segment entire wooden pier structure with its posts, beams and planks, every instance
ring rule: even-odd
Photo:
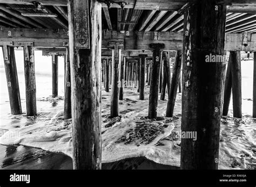
[[[65,56],[63,110],[73,123],[74,169],[101,169],[102,84],[107,92],[111,88],[114,118],[125,89],[136,87],[144,100],[146,82],[151,119],[158,117],[159,92],[162,100],[169,93],[166,117],[173,116],[182,87],[181,130],[197,131],[199,137],[181,141],[181,169],[218,169],[220,118],[228,113],[234,87],[234,117],[242,117],[240,51],[254,52],[256,66],[256,2],[112,0],[107,7],[104,0],[0,0],[0,47],[12,114],[22,113],[14,48],[24,50],[28,116],[37,115],[34,50],[52,56],[53,97],[58,56]],[[205,57],[227,51],[225,82],[226,61],[206,63]],[[255,111],[256,99],[254,117]]]

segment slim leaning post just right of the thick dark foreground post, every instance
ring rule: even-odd
[[[226,80],[225,80],[225,87],[224,87],[223,116],[227,116],[228,107],[230,106],[230,98],[231,98],[231,90],[232,90],[231,64],[232,64],[232,57],[230,53],[230,57],[228,59],[228,64],[227,64]]]

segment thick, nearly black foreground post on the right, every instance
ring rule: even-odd
[[[181,138],[181,169],[218,169],[225,22],[218,0],[199,0],[184,12],[181,132],[196,138]]]

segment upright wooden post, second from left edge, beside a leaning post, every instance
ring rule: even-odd
[[[26,116],[36,116],[36,75],[34,48],[25,45],[23,47],[23,52],[26,87]]]

